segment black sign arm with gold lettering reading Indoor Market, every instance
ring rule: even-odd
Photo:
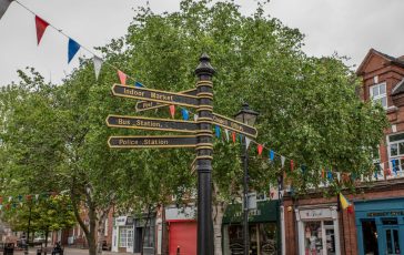
[[[161,90],[135,88],[129,85],[114,84],[112,93],[117,96],[139,99],[165,104],[176,104],[189,108],[198,108],[198,98]]]

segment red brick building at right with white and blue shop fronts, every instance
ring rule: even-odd
[[[361,98],[380,102],[391,123],[375,160],[380,171],[357,195],[346,195],[353,213],[339,211],[337,197],[321,193],[285,195],[283,254],[404,255],[404,58],[371,49],[356,73]]]

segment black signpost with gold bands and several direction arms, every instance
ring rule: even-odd
[[[112,86],[112,93],[115,96],[142,100],[138,102],[137,111],[171,104],[194,108],[198,113],[195,122],[112,114],[105,120],[107,125],[112,128],[191,133],[190,135],[111,136],[108,144],[110,147],[119,149],[195,147],[196,157],[192,163],[192,169],[198,172],[198,255],[213,255],[214,253],[211,190],[212,124],[250,137],[257,135],[253,126],[213,113],[212,76],[214,72],[210,64],[210,58],[203,53],[200,58],[200,64],[195,69],[196,89],[173,93],[121,84]]]

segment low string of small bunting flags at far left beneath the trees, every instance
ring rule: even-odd
[[[55,197],[60,193],[58,192],[43,192],[40,194],[27,194],[27,195],[17,195],[17,196],[0,196],[0,211],[17,208],[18,206],[23,206],[23,203],[49,200],[50,197]]]

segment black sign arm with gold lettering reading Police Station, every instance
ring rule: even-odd
[[[194,135],[110,136],[110,147],[195,147]]]

